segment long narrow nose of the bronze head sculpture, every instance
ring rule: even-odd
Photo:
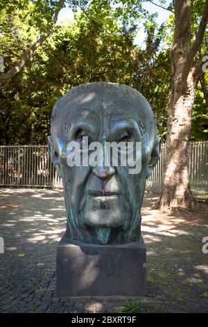
[[[103,144],[101,151],[98,153],[98,164],[92,169],[93,173],[102,180],[114,175],[115,168],[110,166],[110,158],[105,151],[105,144]]]

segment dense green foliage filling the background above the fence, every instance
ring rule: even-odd
[[[51,24],[57,3],[1,1],[0,55],[5,71]],[[70,3],[75,19],[57,24],[24,70],[0,88],[0,144],[46,143],[55,101],[73,86],[94,81],[125,83],[139,90],[153,107],[159,135],[165,140],[173,15],[157,26],[155,15],[146,13],[139,0]],[[78,12],[77,6],[82,10]],[[135,45],[141,24],[146,31],[145,49]],[[206,139],[207,129],[207,107],[199,85],[191,138]]]

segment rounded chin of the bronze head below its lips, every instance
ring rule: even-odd
[[[116,228],[122,225],[119,196],[90,196],[85,203],[85,223],[94,228]]]

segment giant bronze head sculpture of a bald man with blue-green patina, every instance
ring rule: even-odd
[[[147,105],[141,95],[130,97],[110,83],[88,84],[80,93],[63,98],[49,143],[64,183],[67,234],[72,239],[101,244],[138,239],[146,175],[159,156]],[[84,136],[89,143],[102,145],[98,166],[69,167],[67,144],[78,142],[82,155]],[[128,166],[112,166],[110,157],[106,165],[105,142],[113,141],[141,142],[140,173],[130,174]]]

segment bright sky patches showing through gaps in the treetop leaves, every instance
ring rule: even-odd
[[[155,0],[154,2],[159,4],[159,0]],[[166,1],[166,6],[168,6],[169,3],[171,3],[171,0]],[[143,4],[143,7],[144,9],[148,10],[149,13],[158,13],[156,22],[159,25],[165,22],[166,18],[171,14],[168,10],[159,8],[158,6],[155,6],[153,3],[150,3],[148,1]],[[60,10],[60,13],[58,15],[58,22],[67,19],[73,19],[73,11],[69,8],[63,8],[62,10]],[[145,37],[146,35],[144,33],[144,29],[140,29],[135,38],[135,43],[142,47],[142,45],[144,45]]]

